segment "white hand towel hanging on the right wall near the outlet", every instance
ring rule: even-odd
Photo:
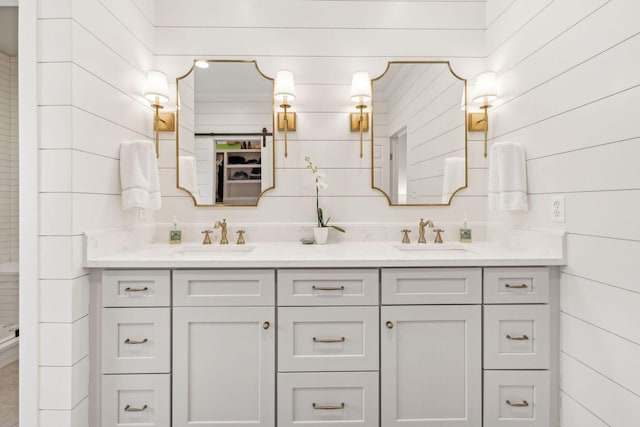
[[[498,142],[489,155],[489,210],[527,211],[527,162],[524,147]]]

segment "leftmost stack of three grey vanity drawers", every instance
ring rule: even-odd
[[[169,295],[168,270],[102,273],[102,426],[171,426]]]

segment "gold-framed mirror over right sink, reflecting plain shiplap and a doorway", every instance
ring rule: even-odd
[[[390,205],[449,205],[467,186],[467,81],[448,61],[392,61],[372,79],[372,185]]]

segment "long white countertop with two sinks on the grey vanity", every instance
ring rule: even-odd
[[[347,241],[326,245],[150,244],[112,254],[86,253],[87,268],[483,267],[564,265],[562,248],[489,243],[401,245]]]

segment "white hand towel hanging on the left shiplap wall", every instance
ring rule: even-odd
[[[123,209],[160,209],[160,178],[153,142],[125,141],[120,146]]]

